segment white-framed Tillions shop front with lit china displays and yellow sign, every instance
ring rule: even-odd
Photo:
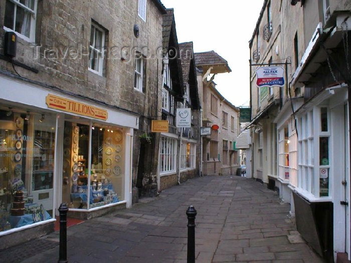
[[[0,82],[0,249],[52,231],[61,203],[86,219],[131,205],[136,115]]]

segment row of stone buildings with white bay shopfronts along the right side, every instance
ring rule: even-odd
[[[350,258],[350,24],[349,1],[264,1],[250,40],[254,178],[329,262]],[[285,85],[257,88],[259,66]]]

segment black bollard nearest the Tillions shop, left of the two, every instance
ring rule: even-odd
[[[67,204],[62,203],[60,212],[60,257],[58,263],[67,263]]]

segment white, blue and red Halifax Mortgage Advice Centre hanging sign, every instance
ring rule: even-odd
[[[282,67],[259,67],[256,70],[258,87],[283,87],[285,85],[284,69]]]

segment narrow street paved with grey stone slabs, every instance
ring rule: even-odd
[[[150,202],[72,226],[68,260],[186,262],[190,204],[198,211],[197,262],[322,262],[299,237],[289,205],[262,184],[238,176],[191,179]],[[25,247],[0,252],[0,258],[57,262],[58,232]]]

